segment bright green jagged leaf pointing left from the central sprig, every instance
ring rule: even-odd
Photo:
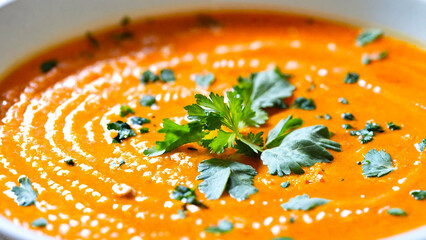
[[[155,147],[146,149],[143,152],[146,156],[159,156],[186,143],[198,142],[206,134],[199,122],[179,125],[170,119],[163,120],[163,128],[158,132],[166,134],[164,141],[157,141]]]

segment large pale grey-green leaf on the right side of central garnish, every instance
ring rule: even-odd
[[[341,151],[340,144],[329,138],[330,132],[323,125],[297,129],[289,133],[279,146],[265,150],[260,158],[272,175],[303,174],[302,167],[333,160],[333,155],[326,148]]]

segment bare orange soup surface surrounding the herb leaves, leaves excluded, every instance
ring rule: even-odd
[[[111,37],[124,31],[133,37]],[[426,152],[414,147],[426,138],[426,53],[389,37],[358,47],[359,31],[271,13],[176,16],[95,32],[99,47],[81,38],[31,59],[0,86],[0,214],[60,239],[377,239],[426,224],[426,200],[410,195],[426,190]],[[361,63],[364,53],[377,51],[388,51],[388,57]],[[57,59],[57,67],[42,73],[40,64],[50,59]],[[303,126],[325,125],[334,133],[331,140],[342,145],[341,152],[330,151],[331,163],[279,177],[270,175],[259,158],[233,150],[210,154],[196,143],[158,157],[143,154],[164,139],[157,132],[164,118],[186,122],[183,107],[195,102],[196,93],[223,94],[237,84],[238,76],[275,66],[291,74],[289,81],[296,87],[285,102],[312,98],[316,110],[271,109],[267,124],[251,130],[267,133],[290,114],[302,118]],[[140,83],[144,71],[164,68],[174,71],[176,81]],[[344,83],[348,72],[358,73],[359,81]],[[215,82],[208,88],[197,86],[195,76],[206,73],[213,73]],[[139,104],[147,94],[156,97],[156,105]],[[340,97],[349,104],[340,103]],[[144,125],[149,132],[111,143],[117,133],[106,124],[131,117],[120,117],[122,104],[135,110],[133,116],[151,120]],[[342,119],[347,112],[354,121]],[[318,118],[324,114],[331,119]],[[363,129],[367,121],[385,129],[367,144],[342,128],[349,123]],[[386,128],[391,121],[401,130]],[[358,163],[370,149],[389,153],[394,171],[365,177]],[[197,190],[208,209],[191,206],[186,218],[180,218],[182,202],[170,198],[174,187],[197,186],[198,164],[227,155],[256,169],[258,193],[244,201],[228,194],[208,200]],[[64,158],[74,159],[75,166],[65,164]],[[125,164],[117,166],[121,160]],[[15,202],[10,189],[19,185],[21,175],[38,192],[35,205]],[[290,187],[280,186],[285,181]],[[117,196],[115,184],[133,188],[135,197]],[[331,201],[310,211],[280,206],[302,194]],[[395,207],[407,216],[387,213]],[[47,226],[31,227],[40,217]],[[220,236],[204,231],[221,219],[232,222],[234,229]]]

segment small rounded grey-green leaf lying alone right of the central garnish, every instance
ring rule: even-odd
[[[362,171],[366,177],[381,177],[394,170],[391,156],[382,150],[371,149],[362,161]]]

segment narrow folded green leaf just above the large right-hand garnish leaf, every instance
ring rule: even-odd
[[[282,119],[271,131],[269,131],[265,146],[267,148],[279,146],[282,140],[289,134],[289,131],[302,126],[302,124],[302,119],[293,118],[292,115],[288,116],[286,119]]]

